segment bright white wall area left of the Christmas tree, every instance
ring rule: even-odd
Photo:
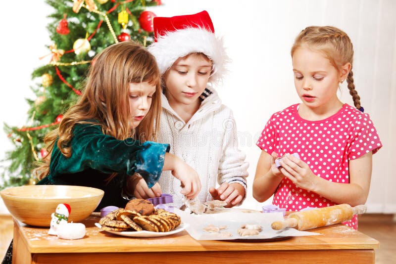
[[[25,98],[35,98],[30,86],[40,83],[31,79],[33,69],[44,65],[39,57],[49,53],[50,44],[46,18],[52,11],[44,1],[24,1],[17,10],[0,16],[1,63],[0,63],[0,160],[13,145],[3,132],[3,122],[22,127],[28,122],[29,105]],[[48,62],[48,60],[47,60]],[[0,162],[7,166],[8,163]],[[0,173],[3,171],[0,168]],[[0,214],[6,212],[0,199]]]

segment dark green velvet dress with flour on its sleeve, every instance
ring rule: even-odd
[[[77,124],[71,140],[71,157],[66,158],[54,145],[49,175],[37,184],[79,185],[99,188],[104,196],[96,211],[106,206],[125,207],[122,198],[126,177],[140,174],[152,187],[158,181],[168,144],[144,143],[127,138],[118,140],[103,134],[99,125]],[[118,173],[110,182],[105,179]]]

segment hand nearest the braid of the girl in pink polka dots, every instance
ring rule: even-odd
[[[314,175],[308,164],[302,160],[287,154],[281,161],[280,171],[288,177],[297,187],[308,191],[315,190],[315,182],[318,176]],[[272,168],[272,167],[271,167]]]

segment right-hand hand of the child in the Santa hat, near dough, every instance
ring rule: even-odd
[[[209,188],[209,192],[213,200],[225,201],[228,208],[239,204],[245,196],[245,188],[239,183],[223,182],[217,189]]]

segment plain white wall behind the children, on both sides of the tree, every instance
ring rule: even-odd
[[[251,0],[247,1],[249,5],[241,5],[243,1],[237,0],[162,2],[164,5],[150,8],[158,16],[207,10],[216,33],[224,37],[233,62],[218,92],[223,103],[234,110],[241,148],[250,163],[250,187],[260,154],[255,146],[259,133],[273,112],[299,101],[290,58],[294,38],[309,25],[333,25],[346,31],[355,50],[356,90],[384,144],[373,158],[367,205],[370,212],[396,213],[396,177],[391,160],[394,156],[391,150],[396,149],[396,1]],[[41,65],[38,57],[48,53],[45,45],[50,40],[45,16],[50,12],[43,2],[28,1],[17,15],[6,12],[0,16],[6,40],[0,71],[3,83],[0,129],[4,121],[15,126],[27,122],[28,106],[23,98],[33,96],[29,89],[30,74]],[[17,34],[21,36],[15,37]],[[346,87],[340,96],[353,105]],[[0,159],[9,148],[6,135],[0,132]],[[250,188],[243,207],[260,206],[251,198]]]

